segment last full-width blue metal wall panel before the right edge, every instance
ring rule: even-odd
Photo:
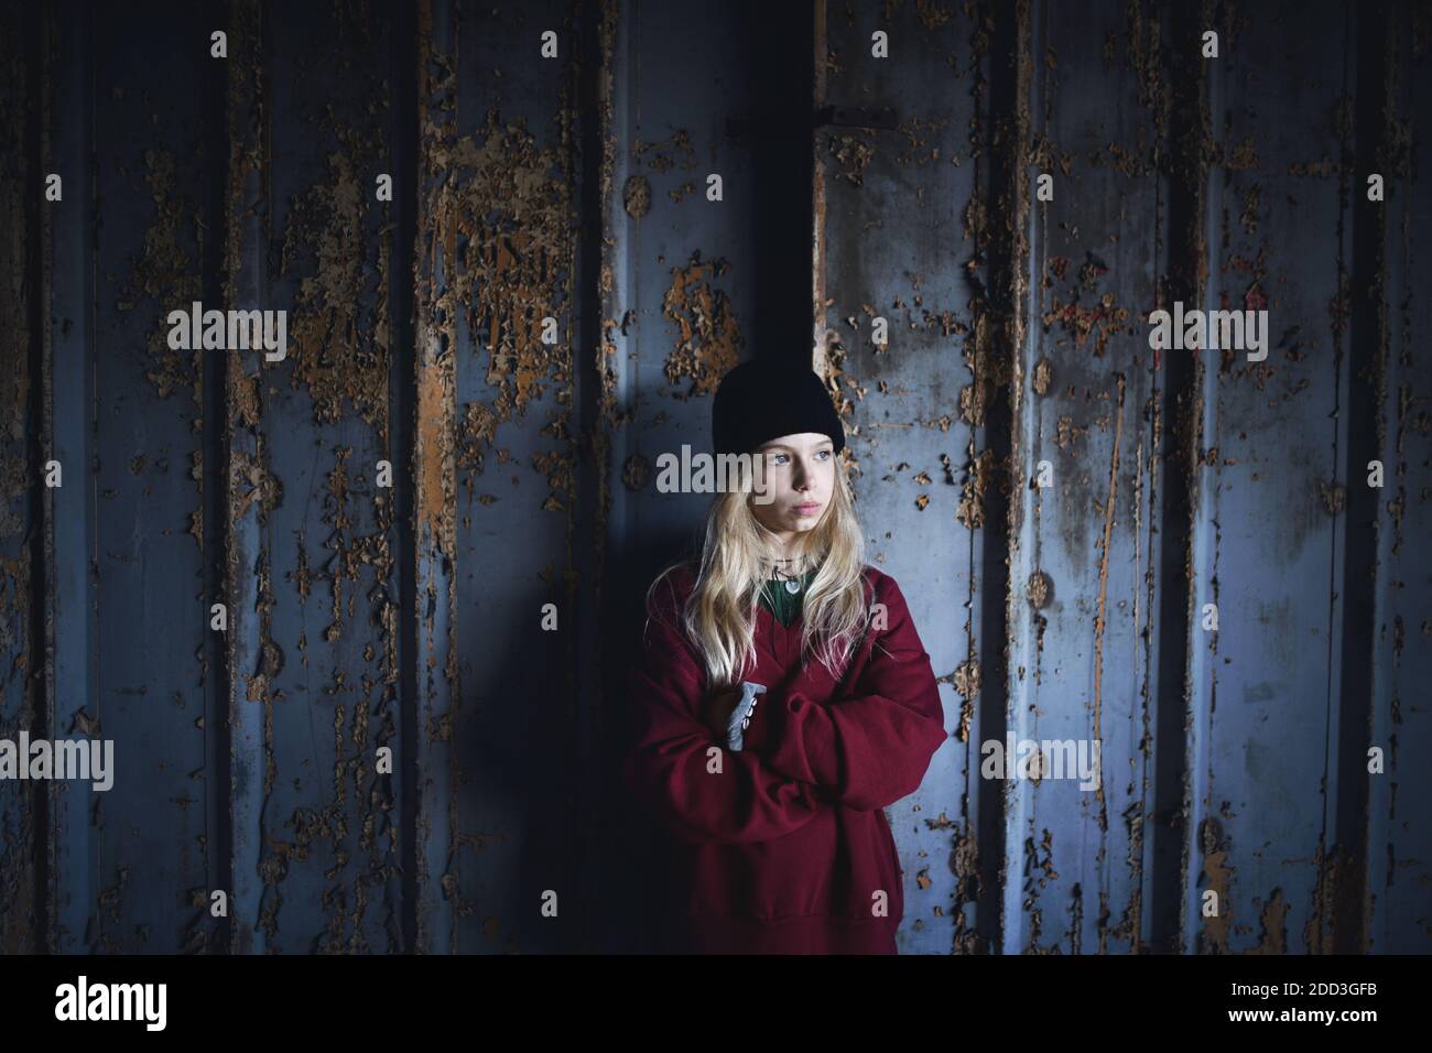
[[[1280,6],[1263,32],[1290,47],[1252,62],[1239,43],[1257,30],[1244,24],[1210,72],[1224,150],[1210,166],[1204,302],[1266,304],[1270,332],[1264,362],[1216,351],[1203,361],[1194,607],[1216,603],[1219,630],[1200,625],[1191,645],[1187,867],[1203,877],[1187,910],[1199,917],[1207,888],[1226,908],[1189,927],[1197,948],[1316,950],[1330,921],[1329,805],[1337,751],[1356,746],[1333,734],[1349,701],[1337,675],[1348,516],[1335,509],[1362,481],[1348,464],[1346,407],[1365,358],[1337,298],[1353,228],[1372,215],[1340,188],[1352,128],[1336,117],[1359,56],[1323,27],[1342,17],[1337,4]]]

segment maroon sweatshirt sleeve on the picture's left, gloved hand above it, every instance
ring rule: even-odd
[[[809,782],[772,771],[749,749],[720,746],[702,719],[706,676],[680,630],[666,583],[649,607],[642,659],[632,673],[636,742],[626,755],[627,789],[680,841],[769,841],[809,822],[831,804]],[[709,771],[720,748],[720,771]]]

